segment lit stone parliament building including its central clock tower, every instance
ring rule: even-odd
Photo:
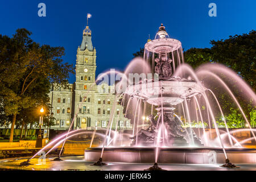
[[[115,102],[114,85],[96,85],[96,49],[93,48],[92,34],[86,26],[82,43],[77,48],[76,81],[69,88],[52,85],[49,93],[51,113],[56,118],[54,130],[67,130],[75,118],[73,129],[106,129]],[[107,88],[107,89],[106,89]],[[123,107],[115,105],[112,128],[130,130],[130,120],[124,117]]]

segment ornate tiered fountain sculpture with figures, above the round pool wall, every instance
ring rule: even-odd
[[[201,83],[196,81],[172,77],[171,63],[175,61],[174,52],[182,49],[181,43],[179,40],[169,38],[165,27],[161,24],[155,40],[146,43],[144,49],[158,55],[155,59],[155,73],[158,74],[159,80],[145,80],[131,85],[127,88],[126,94],[141,98],[150,105],[158,106],[156,108],[158,119],[155,121],[153,115],[148,115],[151,122],[150,127],[146,130],[141,129],[137,135],[131,137],[132,145],[155,146],[156,135],[158,135],[159,126],[162,124],[167,130],[167,139],[172,146],[187,146],[188,143],[200,146],[200,139],[196,137],[193,130],[191,128],[184,129],[181,121],[174,116],[177,104],[206,90]],[[178,57],[178,59],[181,58]],[[175,66],[175,64],[172,65]]]

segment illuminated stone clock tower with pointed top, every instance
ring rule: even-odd
[[[92,32],[89,26],[86,26],[76,55],[74,129],[86,129],[92,125],[92,106],[96,90],[95,72],[96,49],[92,44]]]

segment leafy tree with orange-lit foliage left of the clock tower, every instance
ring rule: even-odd
[[[10,142],[17,114],[40,103],[40,97],[31,93],[41,92],[42,96],[40,89],[53,82],[67,85],[68,74],[74,72],[73,65],[62,63],[63,47],[40,46],[30,35],[24,28],[16,30],[13,38],[0,35],[0,94],[5,114],[13,117]],[[44,94],[48,92],[45,90]]]

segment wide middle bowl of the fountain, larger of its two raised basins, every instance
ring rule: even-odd
[[[159,106],[163,101],[163,106],[168,107],[180,104],[184,98],[196,96],[205,90],[207,89],[203,85],[195,81],[173,77],[168,80],[150,80],[131,85],[127,88],[126,94],[141,97],[151,105]]]

